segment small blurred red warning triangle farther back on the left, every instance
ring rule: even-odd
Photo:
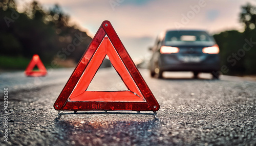
[[[33,70],[33,68],[37,66],[39,70]],[[28,67],[25,70],[26,76],[29,77],[40,77],[40,76],[46,76],[47,70],[44,64],[42,64],[41,59],[37,54],[33,55],[33,58],[29,62]]]

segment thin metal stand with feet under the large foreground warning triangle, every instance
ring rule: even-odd
[[[55,120],[57,120],[58,118],[61,117],[61,115],[68,115],[68,114],[134,114],[134,115],[154,115],[155,120],[159,120],[159,118],[157,117],[157,112],[154,113],[134,113],[134,112],[73,112],[73,113],[58,113],[57,117],[55,118]]]

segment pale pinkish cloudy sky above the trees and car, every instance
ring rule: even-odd
[[[19,0],[22,6],[32,0]],[[256,0],[37,0],[44,9],[58,4],[72,23],[93,36],[102,21],[112,23],[133,59],[148,55],[148,47],[167,29],[200,29],[210,34],[243,31],[241,6]],[[148,57],[148,56],[147,56]]]

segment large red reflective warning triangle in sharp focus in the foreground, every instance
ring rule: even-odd
[[[105,56],[124,82],[125,91],[87,91]],[[65,87],[56,110],[158,111],[160,106],[109,21],[103,21]]]

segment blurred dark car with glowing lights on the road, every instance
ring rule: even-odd
[[[209,72],[219,79],[219,46],[214,38],[201,30],[169,30],[161,33],[150,48],[152,77],[162,78],[164,71]]]

